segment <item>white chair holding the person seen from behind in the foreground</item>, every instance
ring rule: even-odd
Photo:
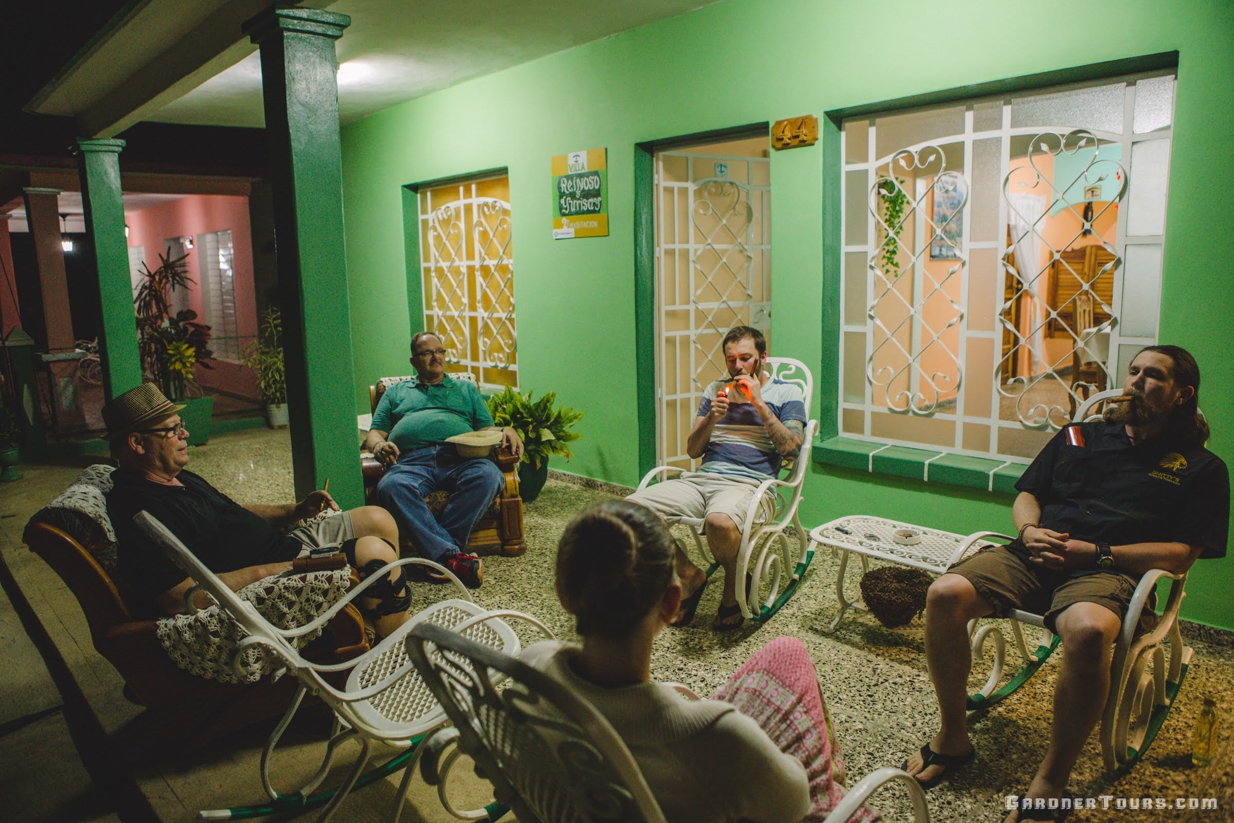
[[[417,626],[406,645],[453,722],[426,744],[426,781],[439,782],[438,765],[448,766],[463,753],[522,823],[664,823],[629,749],[586,698],[524,663],[437,626]],[[500,692],[490,686],[499,680],[507,682]],[[452,745],[457,748],[439,761]],[[913,819],[928,823],[921,784],[890,767],[858,782],[824,823],[844,823],[893,780],[907,786]]]

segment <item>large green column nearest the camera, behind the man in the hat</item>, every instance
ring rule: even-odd
[[[262,52],[296,496],[328,479],[343,508],[364,502],[334,80],[334,41],[350,22],[271,7],[244,23]]]

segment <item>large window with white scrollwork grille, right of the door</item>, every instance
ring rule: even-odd
[[[1027,463],[1120,385],[1157,336],[1172,115],[1141,75],[845,122],[840,434]]]

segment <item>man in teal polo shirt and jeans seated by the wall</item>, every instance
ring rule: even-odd
[[[437,334],[420,332],[411,338],[411,365],[416,380],[386,389],[364,440],[364,448],[387,466],[378,482],[378,501],[399,522],[399,533],[410,537],[424,556],[476,589],[484,581],[484,563],[463,549],[505,480],[492,460],[463,459],[445,439],[500,431],[502,444],[516,457],[522,457],[523,442],[515,429],[492,424],[473,384],[447,378],[445,349]],[[450,491],[441,519],[424,503],[438,489]]]

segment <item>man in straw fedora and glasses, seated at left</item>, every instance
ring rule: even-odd
[[[105,437],[120,465],[111,474],[114,485],[107,492],[107,515],[120,543],[120,570],[152,612],[186,611],[184,595],[191,580],[135,526],[133,517],[141,511],[158,518],[236,591],[291,570],[292,560],[313,549],[338,547],[362,576],[397,559],[397,526],[378,506],[339,512],[284,534],[292,523],[327,508],[338,512],[338,506],[325,490],[299,503],[241,506],[185,469],[189,432],[180,422],[181,408],[152,383],[130,389],[102,407]],[[383,637],[407,621],[405,582],[400,569],[395,580],[373,584],[373,597],[360,598]]]

